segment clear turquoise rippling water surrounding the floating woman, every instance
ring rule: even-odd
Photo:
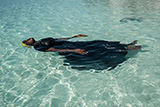
[[[136,18],[140,21],[123,18]],[[159,107],[159,0],[1,0],[0,107]],[[139,40],[142,50],[108,71],[78,71],[57,53],[23,48],[30,37]]]

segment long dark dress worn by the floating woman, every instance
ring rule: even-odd
[[[65,65],[69,64],[75,69],[107,69],[115,68],[118,64],[126,60],[127,50],[125,45],[120,42],[109,42],[103,40],[95,41],[62,41],[53,38],[41,39],[34,45],[39,51],[45,51],[49,48],[55,49],[85,49],[87,54],[81,55],[75,52],[59,52],[64,55]]]

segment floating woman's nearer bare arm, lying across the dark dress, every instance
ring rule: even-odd
[[[76,52],[81,55],[87,54],[88,52],[84,49],[54,49],[54,48],[49,48],[46,50],[46,52]]]

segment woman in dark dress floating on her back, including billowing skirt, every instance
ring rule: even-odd
[[[105,69],[114,68],[126,60],[127,50],[140,50],[141,46],[135,46],[137,40],[130,44],[120,44],[104,40],[94,41],[67,41],[77,37],[88,37],[79,34],[69,38],[44,38],[36,41],[29,38],[22,41],[23,46],[31,47],[43,52],[58,52],[64,55],[65,62],[77,69]]]

